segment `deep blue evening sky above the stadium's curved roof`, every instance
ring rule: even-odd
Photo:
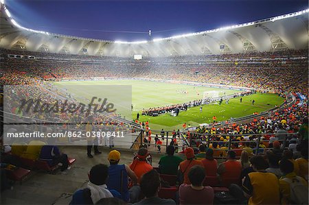
[[[150,40],[247,23],[308,8],[290,1],[46,1],[5,0],[28,28],[104,40]],[[148,29],[152,36],[148,36]]]

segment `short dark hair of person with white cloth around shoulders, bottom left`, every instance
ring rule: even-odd
[[[108,167],[107,165],[99,164],[91,168],[89,173],[89,180],[95,185],[102,185],[106,183],[108,177]]]

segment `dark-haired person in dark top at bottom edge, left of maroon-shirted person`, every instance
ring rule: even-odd
[[[164,200],[158,197],[159,189],[161,187],[160,175],[155,169],[152,169],[145,173],[141,177],[141,193],[145,195],[144,200],[137,202],[135,204],[176,204],[174,200],[168,199]]]

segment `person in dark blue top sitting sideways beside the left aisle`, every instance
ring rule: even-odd
[[[61,163],[60,171],[65,171],[69,167],[67,154],[62,154],[59,148],[55,145],[44,145],[41,149],[40,160],[46,161],[50,167]]]

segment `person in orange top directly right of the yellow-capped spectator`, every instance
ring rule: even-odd
[[[148,157],[148,150],[144,147],[139,149],[137,152],[137,156],[133,160],[133,162],[129,165],[130,169],[134,171],[137,176],[137,182],[140,182],[141,176],[150,171],[152,166],[147,163],[146,158]]]

